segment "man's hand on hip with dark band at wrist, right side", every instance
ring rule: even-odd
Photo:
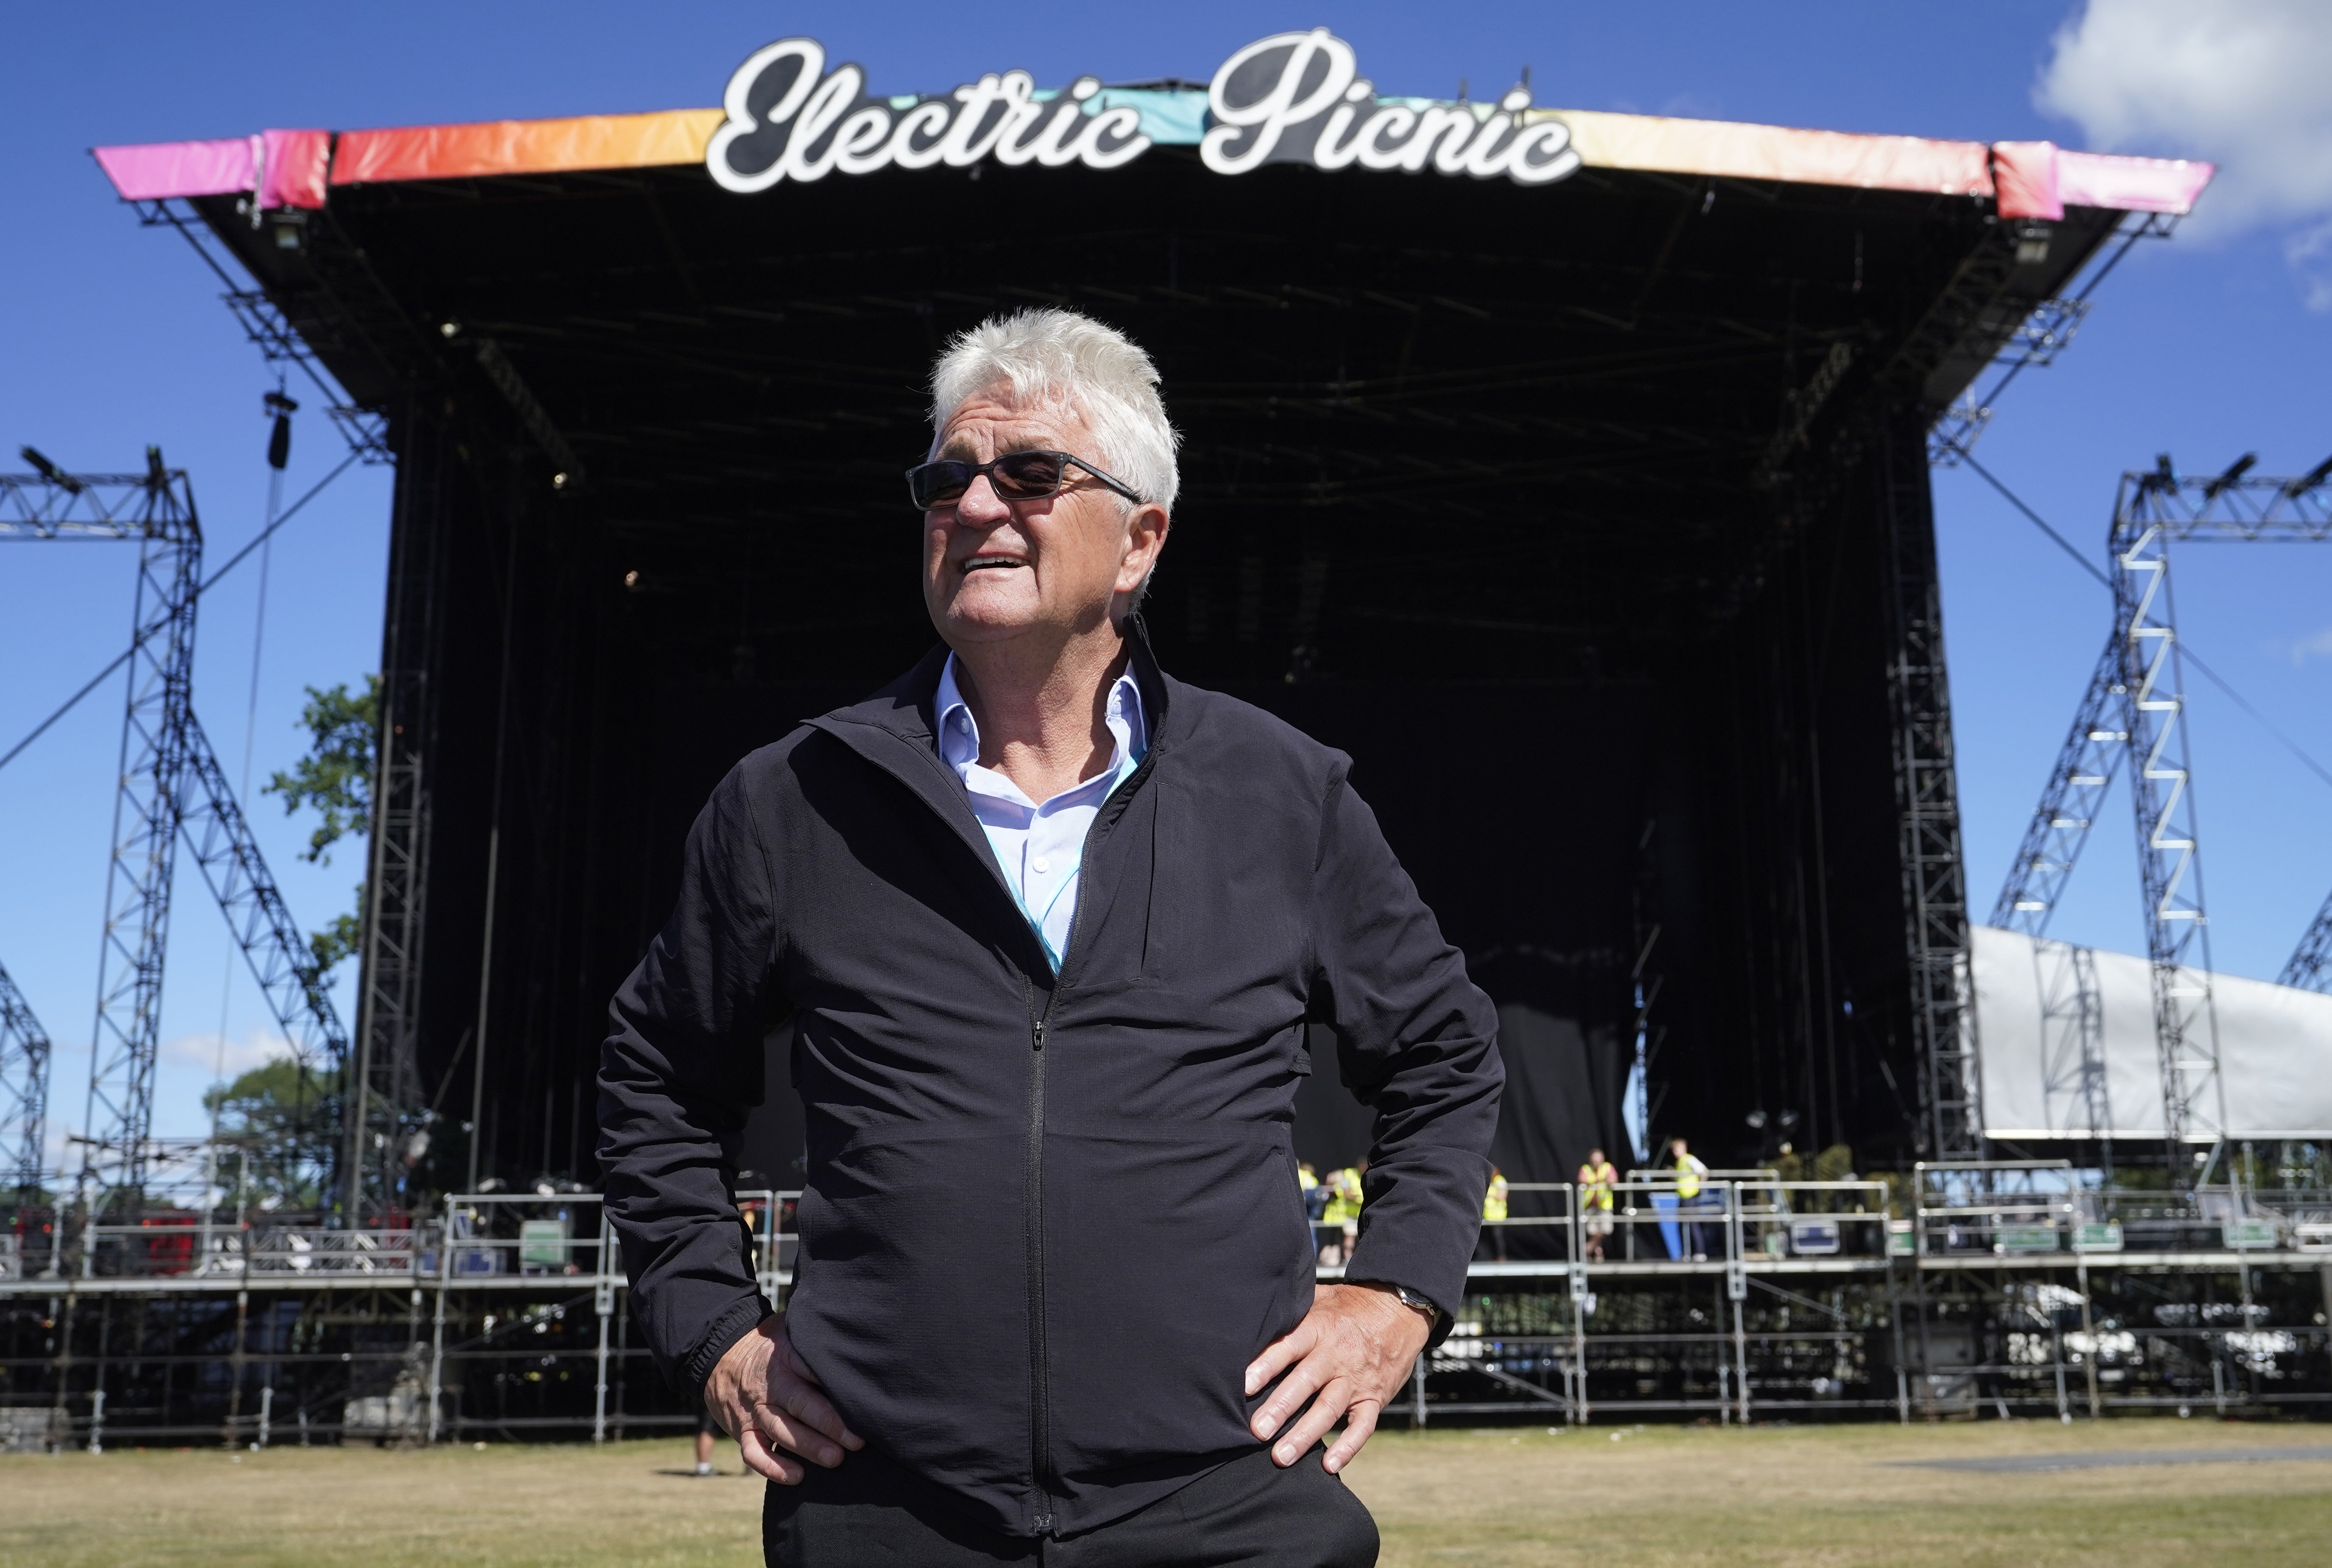
[[[1255,1412],[1250,1426],[1257,1438],[1269,1440],[1311,1400],[1311,1410],[1271,1447],[1271,1463],[1292,1465],[1341,1419],[1343,1438],[1320,1463],[1329,1475],[1343,1470],[1376,1431],[1376,1412],[1409,1382],[1430,1330],[1425,1314],[1402,1305],[1388,1286],[1318,1286],[1304,1321],[1248,1368],[1248,1393],[1294,1368]]]

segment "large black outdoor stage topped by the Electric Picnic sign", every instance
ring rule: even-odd
[[[2208,165],[1378,100],[1322,37],[1234,56],[1213,98],[870,98],[795,40],[725,112],[100,149],[149,221],[257,280],[254,338],[396,464],[340,1172],[366,1223],[595,1186],[606,997],[681,836],[739,755],[930,645],[900,482],[921,382],[1033,303],[1157,356],[1185,431],[1161,659],[1355,757],[1499,1002],[1511,1179],[1621,1153],[1630,1109],[1730,1167],[1784,1139],[1861,1170],[1980,1151],[1931,429],[2061,347],[2064,296]],[[798,1179],[784,1044],[746,1186]],[[1299,1151],[1364,1137],[1315,1076]],[[1740,1302],[1770,1305],[1744,1246],[1705,1323],[1700,1265],[1653,1270],[1642,1333],[1744,1342]],[[1856,1265],[1852,1335],[1908,1321],[1929,1270],[1889,1258]],[[1506,1335],[1583,1333],[1565,1302],[1632,1288],[1532,1270],[1483,1277],[1548,1302]],[[406,1393],[420,1274],[375,1335]],[[1854,1398],[1901,1414],[1898,1370],[1926,1370],[1891,1344]],[[1737,1414],[1726,1356],[1630,1398]],[[1437,1372],[1460,1403],[1481,1382]]]

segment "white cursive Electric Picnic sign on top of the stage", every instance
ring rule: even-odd
[[[1040,91],[1026,70],[989,72],[937,98],[872,98],[863,68],[826,70],[816,40],[788,37],[730,77],[728,119],[704,165],[739,193],[982,158],[1119,168],[1159,140],[1196,142],[1217,175],[1311,163],[1551,184],[1579,168],[1569,128],[1530,112],[1527,89],[1497,105],[1378,98],[1353,44],[1327,28],[1273,33],[1224,61],[1206,89],[1203,128],[1194,100],[1194,91],[1103,89],[1098,77]]]

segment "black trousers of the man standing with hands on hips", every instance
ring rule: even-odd
[[[1371,1568],[1376,1519],[1320,1454],[1280,1470],[1257,1449],[1117,1524],[1028,1540],[954,1512],[935,1486],[861,1449],[837,1470],[812,1465],[800,1486],[772,1482],[760,1549],[770,1568]]]

